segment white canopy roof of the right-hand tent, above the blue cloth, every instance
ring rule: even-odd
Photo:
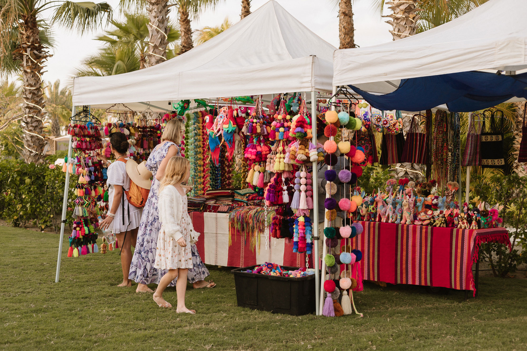
[[[386,94],[401,79],[465,71],[527,72],[527,1],[490,0],[402,40],[337,50],[333,85]],[[519,101],[519,99],[511,99]]]

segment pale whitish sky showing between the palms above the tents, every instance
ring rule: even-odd
[[[252,0],[251,11],[265,4],[268,0]],[[95,2],[98,2],[95,0]],[[114,17],[119,17],[119,0],[107,0],[114,8]],[[321,38],[338,47],[338,9],[331,5],[330,0],[277,0],[286,11],[304,23],[311,31]],[[392,26],[384,23],[385,18],[380,18],[368,7],[370,1],[356,1],[353,6],[355,24],[355,43],[360,47],[386,43],[392,40],[388,32]],[[174,7],[173,7],[174,8]],[[226,0],[213,10],[207,10],[200,14],[198,19],[191,22],[192,30],[203,26],[217,26],[223,22],[225,17],[233,23],[240,20],[241,1]],[[172,10],[170,15],[177,16],[177,11]],[[53,57],[47,61],[47,72],[43,79],[46,81],[61,80],[65,86],[75,72],[76,67],[81,65],[84,57],[94,54],[102,43],[93,38],[102,33],[84,34],[83,36],[71,33],[61,27],[54,28],[56,47],[52,49]]]

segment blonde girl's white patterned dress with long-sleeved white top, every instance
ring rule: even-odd
[[[174,186],[166,186],[159,193],[159,220],[161,230],[155,249],[154,267],[159,269],[192,268],[191,246],[197,240],[187,211],[187,196],[182,196]],[[187,246],[181,247],[183,238]]]

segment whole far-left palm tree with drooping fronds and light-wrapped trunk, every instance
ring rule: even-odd
[[[53,10],[53,16],[45,14]],[[0,72],[3,75],[22,73],[24,100],[21,136],[25,162],[44,160],[45,96],[42,74],[48,49],[49,24],[59,23],[80,33],[97,28],[108,21],[111,7],[107,3],[75,3],[53,0],[0,0]]]

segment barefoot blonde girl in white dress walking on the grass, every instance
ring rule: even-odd
[[[187,274],[192,268],[191,245],[198,240],[187,210],[187,195],[182,182],[190,177],[189,160],[181,156],[170,158],[159,185],[159,220],[161,230],[155,250],[154,267],[168,270],[154,292],[154,301],[160,307],[172,307],[163,299],[163,291],[172,280],[178,278],[175,290],[178,295],[177,313],[196,314],[185,306]]]

